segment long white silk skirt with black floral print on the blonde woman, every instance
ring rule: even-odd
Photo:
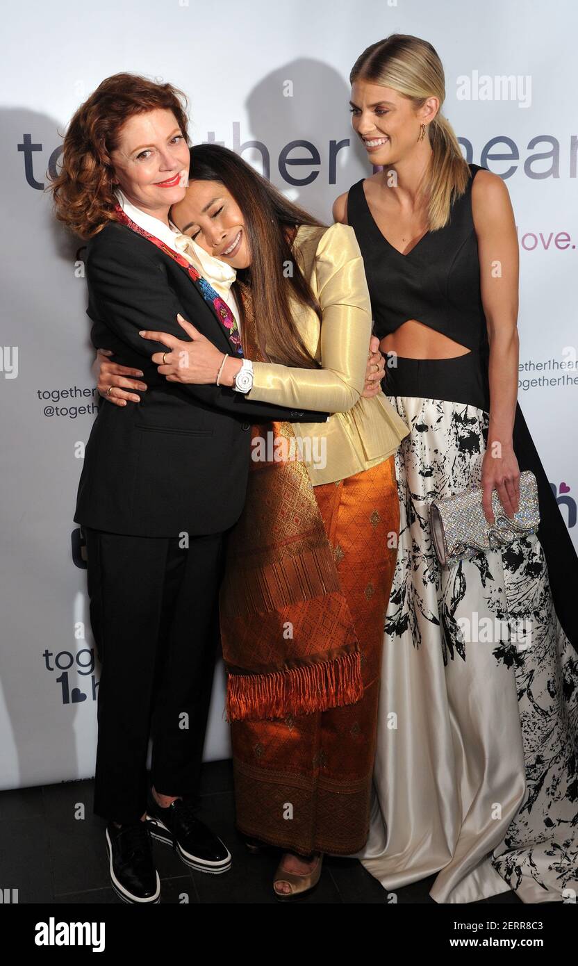
[[[572,901],[578,656],[554,610],[536,534],[439,567],[428,506],[480,483],[488,414],[478,390],[478,405],[424,395],[435,388],[463,398],[460,380],[475,357],[416,361],[399,359],[388,383],[411,433],[396,456],[399,553],[371,828],[357,858],[389,892],[437,873],[429,895],[440,903],[509,890],[523,902]],[[457,376],[450,384],[447,363]],[[420,395],[397,394],[408,379]]]

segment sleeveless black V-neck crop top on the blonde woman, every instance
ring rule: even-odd
[[[366,200],[365,179],[349,188],[347,223],[363,255],[373,332],[379,340],[408,319],[447,335],[471,350],[487,350],[480,293],[478,240],[472,217],[472,177],[452,206],[444,228],[427,234],[402,255],[383,237]],[[487,170],[487,169],[484,169]]]

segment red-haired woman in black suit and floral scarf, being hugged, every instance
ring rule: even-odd
[[[228,848],[197,815],[223,536],[243,506],[250,422],[326,419],[250,402],[229,379],[242,355],[234,316],[169,220],[188,180],[183,100],[170,84],[108,77],[70,121],[52,185],[57,217],[89,240],[93,341],[149,386],[138,407],[100,406],[74,515],[86,536],[102,665],[94,810],[107,819],[112,885],[132,903],[160,895],[147,814],[188,866],[231,866]],[[220,385],[171,384],[157,372],[151,355],[165,346],[139,330],[186,338],[179,313],[218,350]]]

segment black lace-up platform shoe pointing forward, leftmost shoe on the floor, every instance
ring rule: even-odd
[[[120,828],[108,822],[106,850],[112,887],[124,902],[160,901],[160,879],[154,867],[147,822],[139,820]]]

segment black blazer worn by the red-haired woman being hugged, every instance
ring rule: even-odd
[[[86,275],[96,348],[142,369],[140,403],[99,398],[86,446],[74,521],[113,533],[174,537],[217,533],[238,519],[247,486],[252,423],[324,422],[325,412],[251,402],[227,386],[169,383],[151,355],[166,346],[139,329],[188,335],[177,313],[219,350],[227,330],[186,269],[151,241],[109,222],[87,245]]]

